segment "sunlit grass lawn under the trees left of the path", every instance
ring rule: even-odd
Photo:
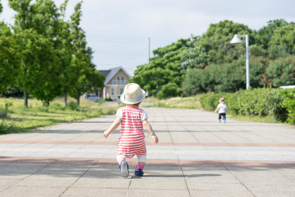
[[[75,99],[69,98],[68,103],[71,101],[71,104],[76,103]],[[55,123],[115,114],[117,109],[116,102],[114,105],[106,105],[103,101],[95,103],[84,99],[83,103],[80,101],[77,110],[72,110],[64,107],[63,98],[50,102],[49,107],[43,106],[41,101],[29,99],[26,108],[23,106],[23,99],[0,98],[0,134],[25,132]]]

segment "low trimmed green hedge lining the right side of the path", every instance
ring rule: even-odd
[[[201,97],[205,110],[214,110],[224,97],[231,114],[269,116],[295,124],[295,89],[249,88],[235,93],[213,93]]]

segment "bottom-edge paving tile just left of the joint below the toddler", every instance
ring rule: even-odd
[[[127,188],[80,188],[70,187],[62,196],[125,197]]]

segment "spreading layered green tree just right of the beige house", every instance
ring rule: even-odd
[[[183,70],[186,69],[181,65],[181,54],[187,49],[188,40],[180,39],[171,45],[154,50],[155,57],[151,58],[149,64],[137,66],[130,81],[139,84],[143,89],[149,91],[150,95],[155,96],[160,93],[159,98],[175,96],[183,81]],[[169,87],[165,86],[162,90],[166,84]],[[167,89],[169,91],[166,91]],[[174,93],[171,94],[172,92]]]

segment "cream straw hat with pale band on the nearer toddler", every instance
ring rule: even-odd
[[[120,100],[125,104],[137,104],[145,98],[145,91],[136,83],[129,83],[125,86]]]

